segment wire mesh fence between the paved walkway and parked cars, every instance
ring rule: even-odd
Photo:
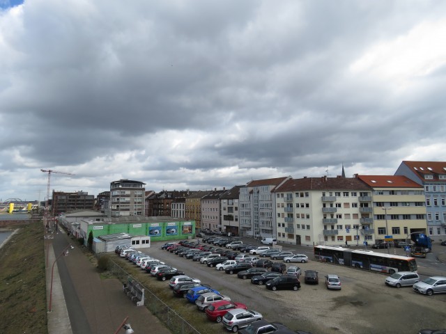
[[[108,270],[121,282],[128,282],[129,280],[134,280],[132,276],[127,273],[123,268],[119,266],[113,260],[109,260]],[[196,328],[194,328],[191,324],[189,324],[183,317],[178,315],[177,312],[172,310],[169,305],[164,303],[161,299],[159,299],[153,292],[150,291],[147,287],[142,285],[141,283],[137,283],[144,288],[145,298],[144,298],[144,306],[150,310],[155,317],[160,319],[164,325],[169,328],[169,330],[174,334],[200,334]]]

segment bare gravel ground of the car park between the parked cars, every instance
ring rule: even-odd
[[[250,280],[161,250],[162,244],[164,242],[153,242],[151,248],[142,250],[189,276],[199,278],[233,301],[261,312],[268,321],[282,322],[293,330],[353,334],[417,333],[421,328],[446,328],[446,294],[424,296],[413,292],[411,287],[387,287],[384,284],[386,276],[380,273],[316,262],[310,256],[308,263],[293,265],[300,267],[302,273],[307,269],[318,271],[318,285],[305,285],[301,279],[302,287],[297,292],[272,292],[264,286],[253,285]],[[328,273],[341,278],[340,291],[325,288],[324,276]],[[196,312],[207,321],[206,316]],[[217,324],[215,328],[217,332],[225,332]]]

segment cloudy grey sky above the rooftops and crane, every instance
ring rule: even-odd
[[[446,1],[0,0],[0,198],[446,161],[445,78]]]

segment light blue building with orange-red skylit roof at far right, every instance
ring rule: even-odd
[[[404,175],[424,186],[429,237],[446,239],[446,162],[402,161],[395,175]]]

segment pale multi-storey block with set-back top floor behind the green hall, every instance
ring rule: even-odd
[[[144,182],[127,179],[111,182],[111,216],[143,216],[145,212],[145,185]]]

